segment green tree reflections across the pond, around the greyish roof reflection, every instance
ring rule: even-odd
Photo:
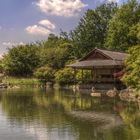
[[[26,92],[28,93],[28,92]],[[34,94],[33,94],[34,93]],[[140,129],[140,112],[136,104],[123,103],[112,99],[92,98],[87,95],[74,95],[68,91],[31,94],[3,94],[2,108],[11,121],[40,123],[47,129],[58,128],[65,135],[66,127],[70,134],[76,134],[78,140],[114,140],[138,139]],[[98,112],[121,115],[125,128],[98,129],[101,122],[92,122],[70,114],[73,111]],[[82,116],[82,114],[80,114]],[[107,118],[107,116],[104,116]],[[108,117],[109,118],[109,117]],[[117,123],[117,122],[116,122]],[[130,138],[128,138],[130,137]]]

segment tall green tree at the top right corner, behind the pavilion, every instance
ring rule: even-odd
[[[130,0],[119,7],[109,22],[106,46],[113,50],[126,51],[137,44],[137,33],[140,22],[140,4]]]

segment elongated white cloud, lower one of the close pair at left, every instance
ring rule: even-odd
[[[42,26],[38,26],[38,25],[33,25],[33,26],[28,26],[26,28],[26,31],[29,34],[33,34],[33,35],[48,35],[51,33],[51,31],[47,28],[44,28]]]

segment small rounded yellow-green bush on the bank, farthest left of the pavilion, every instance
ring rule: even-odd
[[[43,66],[35,70],[34,76],[41,81],[51,82],[54,80],[54,70],[51,67]]]

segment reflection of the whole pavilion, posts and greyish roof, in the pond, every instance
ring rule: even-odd
[[[63,106],[67,117],[74,121],[82,120],[93,124],[96,128],[103,129],[124,125],[121,116],[117,113],[118,105],[114,100],[95,99],[87,96],[75,97],[69,92],[63,96],[57,93],[54,99]]]

